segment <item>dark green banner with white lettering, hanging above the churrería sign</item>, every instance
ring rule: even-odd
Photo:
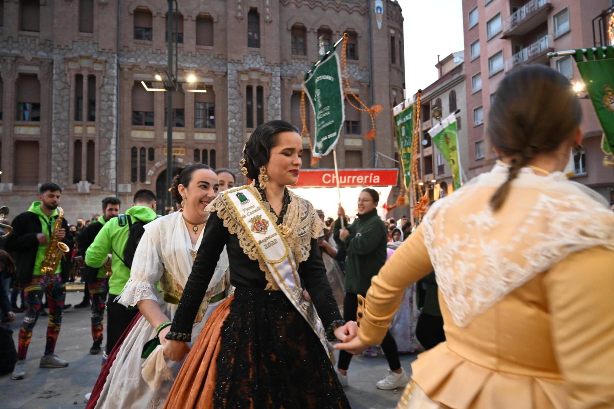
[[[313,156],[321,158],[335,149],[345,121],[339,58],[331,52],[308,73],[305,93],[316,118]]]

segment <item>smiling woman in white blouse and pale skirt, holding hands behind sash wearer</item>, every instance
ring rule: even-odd
[[[182,364],[165,359],[165,335],[209,217],[204,208],[216,198],[218,189],[217,175],[209,166],[186,166],[174,177],[171,187],[182,211],[145,226],[134,254],[130,280],[118,299],[123,305],[138,306],[143,316],[123,341],[96,408],[158,408],[164,404]],[[223,251],[193,325],[194,340],[227,295],[224,279],[227,268],[228,255]],[[147,344],[150,340],[152,344]],[[155,346],[158,342],[160,345]]]

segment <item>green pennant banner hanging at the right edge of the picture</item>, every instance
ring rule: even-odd
[[[604,129],[602,147],[604,152],[611,153],[614,147],[614,47],[576,50],[575,60]]]

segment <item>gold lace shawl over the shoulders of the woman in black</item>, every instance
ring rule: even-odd
[[[249,186],[249,189],[251,189],[251,192],[257,198],[262,200],[262,195],[254,188],[253,183]],[[270,286],[276,289],[273,278],[271,277],[269,279],[269,270],[264,260],[262,260],[258,254],[256,244],[251,240],[249,233],[245,232],[243,225],[236,218],[238,215],[233,211],[230,198],[228,198],[225,193],[226,192],[222,192],[217,195],[217,198],[209,203],[206,210],[217,212],[217,216],[222,219],[223,225],[228,229],[228,232],[238,236],[239,244],[241,244],[243,252],[251,260],[258,262],[260,270],[266,273],[267,281]],[[291,200],[288,204],[288,209],[284,215],[282,224],[290,228],[290,233],[286,236],[286,241],[298,265],[309,258],[311,239],[317,238],[320,232],[322,232],[324,229],[324,222],[317,216],[316,210],[313,208],[311,202],[295,195],[292,191],[290,191],[289,194]]]

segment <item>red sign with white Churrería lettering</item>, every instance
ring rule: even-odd
[[[395,186],[398,169],[339,169],[341,187]],[[297,187],[336,187],[335,169],[301,169]]]

